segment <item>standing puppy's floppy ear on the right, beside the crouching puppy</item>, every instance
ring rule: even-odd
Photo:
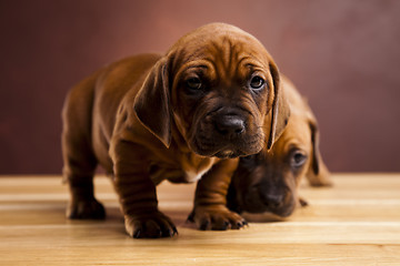
[[[284,127],[288,124],[290,116],[290,108],[287,99],[284,98],[284,90],[282,88],[278,68],[274,63],[269,64],[270,72],[272,75],[272,85],[273,85],[273,102],[271,109],[271,125],[269,137],[267,142],[267,149],[270,150],[273,143],[282,134]]]

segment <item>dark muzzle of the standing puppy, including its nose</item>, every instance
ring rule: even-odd
[[[261,122],[242,106],[218,108],[196,117],[188,144],[199,155],[233,158],[256,154],[264,145]]]

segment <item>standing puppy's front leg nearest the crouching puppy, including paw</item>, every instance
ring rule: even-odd
[[[227,207],[228,187],[237,164],[238,160],[223,160],[199,181],[190,218],[200,229],[239,229],[247,225],[244,218]]]

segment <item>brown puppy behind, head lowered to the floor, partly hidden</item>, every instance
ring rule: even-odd
[[[312,186],[329,186],[329,172],[318,149],[314,115],[292,83],[281,75],[282,94],[290,117],[270,151],[240,160],[228,193],[228,206],[238,213],[271,213],[289,216],[307,203],[299,198],[298,185],[306,176]]]

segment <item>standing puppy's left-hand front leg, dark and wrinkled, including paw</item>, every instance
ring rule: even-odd
[[[158,209],[156,185],[149,176],[148,151],[129,141],[112,141],[110,155],[127,233],[134,238],[177,234],[171,219]]]

